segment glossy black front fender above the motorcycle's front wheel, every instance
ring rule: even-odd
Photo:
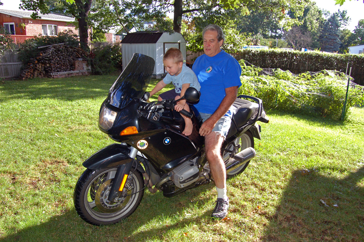
[[[91,170],[116,167],[134,160],[129,156],[129,152],[127,145],[112,144],[100,149],[82,165]]]

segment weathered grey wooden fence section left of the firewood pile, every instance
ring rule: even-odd
[[[15,51],[5,51],[0,57],[0,78],[15,78],[20,76],[23,63]]]

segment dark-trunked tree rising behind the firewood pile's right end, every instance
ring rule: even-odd
[[[83,47],[88,43],[88,14],[92,0],[59,0],[58,11],[74,16],[80,30],[80,42]],[[21,0],[20,8],[34,11],[32,18],[40,18],[38,13],[51,13],[50,6],[54,5],[54,0]]]

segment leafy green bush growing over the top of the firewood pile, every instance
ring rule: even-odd
[[[59,32],[58,35],[38,35],[35,39],[27,39],[19,48],[19,58],[22,62],[27,63],[31,58],[38,56],[41,46],[65,43],[67,46],[79,47],[80,41],[77,34],[71,30]]]

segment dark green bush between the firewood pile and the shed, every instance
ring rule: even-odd
[[[107,75],[122,67],[121,45],[118,43],[94,48],[91,56],[92,72],[96,75]]]

